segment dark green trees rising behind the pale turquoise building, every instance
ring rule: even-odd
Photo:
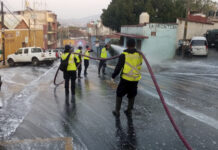
[[[151,22],[176,22],[186,16],[187,0],[112,0],[101,15],[105,26],[120,31],[122,25],[139,23],[142,12],[150,14]],[[191,10],[208,14],[213,9],[212,0],[191,0]]]

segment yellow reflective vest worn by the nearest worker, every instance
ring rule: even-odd
[[[125,64],[121,77],[127,81],[139,81],[141,79],[142,56],[135,52],[133,54],[123,52]]]

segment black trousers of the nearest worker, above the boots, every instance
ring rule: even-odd
[[[129,99],[137,95],[138,82],[127,81],[121,78],[117,88],[117,97],[123,97],[127,94]]]

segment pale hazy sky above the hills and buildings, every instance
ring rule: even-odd
[[[60,19],[83,18],[102,13],[111,0],[29,0],[30,4],[37,2],[36,7],[52,10]],[[6,6],[12,11],[24,8],[25,0],[3,0]],[[40,5],[44,2],[43,5]],[[42,4],[42,3],[41,3]],[[33,5],[32,5],[33,6]]]

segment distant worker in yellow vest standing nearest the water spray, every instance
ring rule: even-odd
[[[110,48],[110,45],[109,44],[106,44],[104,46],[104,48],[102,48],[101,50],[101,58],[105,59],[107,58],[107,51],[109,50]],[[106,68],[106,60],[100,60],[100,63],[99,63],[99,67],[98,67],[98,75],[100,76],[100,73],[101,73],[101,68],[102,68],[102,74],[105,75],[105,68]]]

